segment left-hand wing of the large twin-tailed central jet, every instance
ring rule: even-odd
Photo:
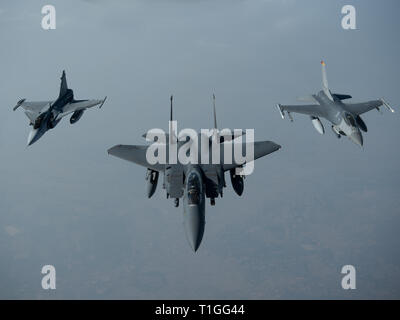
[[[149,146],[138,145],[116,145],[107,150],[108,154],[114,157],[121,158],[126,161],[136,163],[145,168],[150,168],[156,171],[163,171],[165,166],[159,163],[154,165],[149,164],[146,159],[146,151]]]

